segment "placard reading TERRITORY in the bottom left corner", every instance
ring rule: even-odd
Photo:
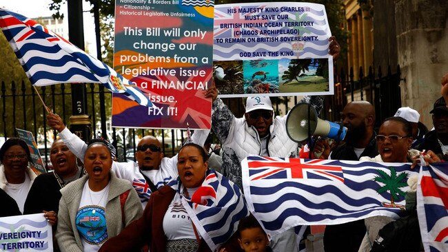
[[[52,229],[43,213],[0,218],[2,251],[53,251]]]

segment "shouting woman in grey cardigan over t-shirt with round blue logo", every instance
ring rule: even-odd
[[[142,213],[130,182],[110,171],[112,153],[105,140],[90,141],[84,165],[88,175],[61,189],[56,233],[61,251],[98,251]]]

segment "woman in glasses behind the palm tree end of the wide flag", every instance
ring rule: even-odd
[[[379,155],[374,158],[362,157],[360,161],[373,162],[413,162],[420,151],[410,149],[412,145],[412,126],[398,116],[386,118],[376,136]],[[434,155],[435,156],[435,155]],[[440,162],[440,160],[438,160]],[[433,160],[432,162],[437,162]],[[360,245],[360,251],[370,251],[378,232],[385,224],[394,221],[386,216],[374,216],[365,219],[367,233]]]

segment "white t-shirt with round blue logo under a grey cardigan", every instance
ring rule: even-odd
[[[96,252],[108,240],[105,222],[105,204],[108,202],[109,185],[101,191],[92,191],[87,180],[75,218],[84,252]]]

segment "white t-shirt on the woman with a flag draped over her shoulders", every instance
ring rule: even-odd
[[[188,188],[188,195],[193,195],[196,189]],[[183,207],[179,193],[176,193],[165,213],[165,217],[163,217],[163,231],[168,240],[185,238],[196,240],[192,220]]]

